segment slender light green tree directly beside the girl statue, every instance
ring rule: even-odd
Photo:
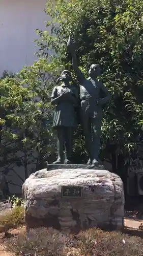
[[[17,76],[20,87],[26,88],[29,97],[19,102],[7,118],[11,122],[11,130],[15,131],[16,164],[24,167],[25,179],[33,171],[45,167],[45,162],[54,157],[50,94],[57,71],[54,59],[51,63],[40,59],[30,67],[25,66]]]

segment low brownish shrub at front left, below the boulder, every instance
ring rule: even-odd
[[[7,242],[7,248],[16,255],[62,255],[65,246],[66,237],[62,233],[46,228],[32,229],[28,236],[19,235]]]

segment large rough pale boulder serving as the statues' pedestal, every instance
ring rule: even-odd
[[[22,191],[27,228],[45,226],[78,232],[96,226],[123,226],[123,182],[107,170],[43,169],[25,181]]]

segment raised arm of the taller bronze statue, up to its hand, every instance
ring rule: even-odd
[[[84,79],[84,75],[78,67],[77,57],[76,57],[76,52],[75,52],[75,42],[72,40],[71,36],[69,36],[67,47],[68,47],[69,52],[72,55],[72,65],[73,65],[75,75],[77,76],[77,79],[80,82]]]

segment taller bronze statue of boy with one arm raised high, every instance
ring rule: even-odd
[[[80,84],[80,118],[89,154],[88,164],[98,166],[101,121],[103,116],[102,105],[109,100],[110,95],[107,88],[98,80],[98,76],[101,74],[101,69],[98,65],[91,65],[89,78],[86,79],[84,77],[83,73],[78,68],[75,44],[74,40],[69,37],[68,50],[72,55],[73,69]],[[101,93],[104,94],[105,97],[102,98],[100,96]]]

